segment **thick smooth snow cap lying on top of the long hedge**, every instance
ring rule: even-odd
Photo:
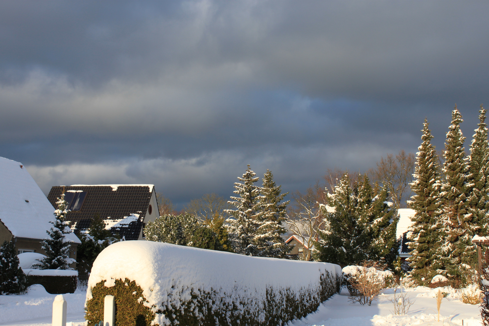
[[[95,284],[106,281],[110,287],[115,279],[135,281],[149,304],[158,306],[179,288],[221,289],[221,293],[236,289],[264,293],[267,286],[299,290],[318,284],[325,271],[341,275],[339,265],[326,262],[249,257],[164,242],[120,241],[105,248],[94,261],[87,300]]]

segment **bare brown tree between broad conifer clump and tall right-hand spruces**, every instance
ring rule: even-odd
[[[409,184],[413,181],[414,164],[416,157],[413,153],[401,150],[394,157],[393,154],[387,154],[384,158],[380,157],[377,162],[377,169],[371,169],[369,174],[373,182],[382,183],[389,191],[390,199],[394,202],[394,207],[399,209],[405,207],[405,192],[410,190]],[[409,193],[407,197],[410,197]]]

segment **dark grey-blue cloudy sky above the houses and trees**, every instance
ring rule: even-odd
[[[284,191],[327,169],[466,151],[489,96],[487,1],[2,1],[0,156],[44,193],[152,183],[229,196],[246,164]]]

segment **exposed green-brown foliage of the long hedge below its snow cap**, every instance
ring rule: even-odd
[[[340,278],[329,272],[321,274],[317,291],[301,291],[298,300],[289,288],[274,290],[268,287],[263,302],[265,318],[260,318],[256,312],[238,309],[236,300],[246,306],[246,302],[242,301],[244,298],[221,297],[216,290],[205,292],[193,288],[190,289],[191,300],[180,306],[166,306],[155,314],[144,305],[147,301],[143,297],[143,290],[134,281],[115,280],[115,285],[111,287],[106,287],[104,283],[99,282],[92,288],[92,298],[87,301],[85,319],[89,325],[103,320],[104,298],[113,295],[116,311],[114,326],[151,326],[155,316],[160,314],[164,314],[168,319],[167,325],[172,326],[282,326],[315,311],[319,304],[340,290]]]

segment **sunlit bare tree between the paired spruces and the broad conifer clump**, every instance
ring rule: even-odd
[[[324,202],[324,196],[323,188],[319,186],[319,183],[316,183],[314,188],[308,188],[305,194],[299,191],[292,194],[295,203],[287,215],[286,223],[289,224],[289,229],[305,244],[301,260],[311,260],[312,243],[317,239],[318,231],[324,226],[325,220],[320,208],[320,204]]]

